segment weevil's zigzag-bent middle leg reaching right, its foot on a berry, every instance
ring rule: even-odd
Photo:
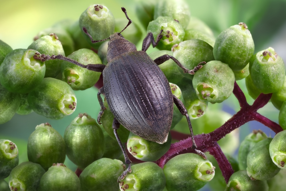
[[[166,62],[167,60],[172,59],[174,60],[174,62],[180,67],[182,68],[184,74],[188,73],[188,74],[194,74],[196,71],[198,71],[198,69],[202,68],[202,64],[206,64],[206,62],[200,62],[196,67],[194,67],[194,69],[189,70],[188,68],[184,67],[176,58],[174,58],[173,56],[170,56],[168,54],[164,54],[162,56],[159,56],[158,58],[156,58],[154,60],[154,62],[157,65],[160,65],[164,62]]]

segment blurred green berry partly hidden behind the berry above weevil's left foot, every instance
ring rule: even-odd
[[[37,40],[43,36],[50,35],[51,33],[57,35],[58,40],[61,42],[61,45],[63,46],[65,55],[69,55],[72,54],[72,52],[74,52],[74,41],[72,40],[72,37],[70,36],[70,34],[67,32],[66,29],[60,26],[50,27],[44,29],[43,31],[40,31],[37,34],[37,36],[34,37],[34,40]]]

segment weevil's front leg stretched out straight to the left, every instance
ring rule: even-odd
[[[35,60],[41,60],[42,62],[45,62],[47,60],[55,60],[55,59],[59,59],[59,60],[65,60],[67,62],[70,62],[70,63],[73,63],[73,64],[76,64],[82,68],[87,68],[88,70],[92,70],[92,71],[95,71],[95,72],[102,72],[105,68],[105,65],[104,64],[88,64],[88,65],[84,65],[84,64],[81,64],[80,62],[76,61],[76,60],[73,60],[71,58],[68,58],[68,57],[65,57],[61,54],[59,55],[45,55],[45,54],[41,54],[41,55],[37,55],[35,54],[33,56],[33,58]]]

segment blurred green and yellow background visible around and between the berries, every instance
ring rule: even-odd
[[[285,0],[200,0],[187,2],[191,15],[205,21],[213,29],[215,36],[232,25],[245,22],[253,36],[255,52],[271,46],[286,61]],[[76,21],[81,13],[93,4],[107,6],[115,18],[125,17],[120,9],[120,7],[125,7],[130,19],[141,26],[136,17],[136,1],[2,0],[0,7],[0,39],[9,44],[13,49],[27,48],[39,31],[63,19]],[[144,38],[146,31],[143,27],[142,32]],[[138,49],[141,48],[141,42],[137,45]],[[156,49],[149,48],[148,52],[154,50]],[[238,83],[243,91],[247,92],[244,80],[240,80]],[[76,111],[63,119],[51,120],[36,113],[24,116],[15,114],[11,121],[0,125],[0,138],[10,139],[19,147],[20,162],[27,160],[27,139],[37,125],[49,122],[54,129],[63,135],[65,128],[78,113],[88,113],[93,118],[97,117],[100,109],[96,96],[97,89],[90,88],[84,91],[75,91],[75,93],[77,97]],[[250,97],[247,97],[247,100],[249,103],[253,103],[253,99]],[[222,104],[215,104],[210,107],[221,107],[231,114],[239,110],[239,104],[233,95]],[[278,122],[279,111],[271,103],[260,109],[259,112],[271,120]],[[260,125],[258,122],[251,122],[240,128],[240,139],[243,139],[250,132],[250,129],[253,128],[263,129],[267,135],[271,134],[274,136],[273,132],[268,128]],[[67,158],[66,164],[69,168],[75,170],[76,166],[69,162]]]

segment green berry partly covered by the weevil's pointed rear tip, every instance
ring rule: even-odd
[[[156,161],[161,158],[170,148],[171,135],[169,133],[167,142],[163,144],[145,140],[130,132],[127,141],[127,149],[136,159],[142,161]]]

